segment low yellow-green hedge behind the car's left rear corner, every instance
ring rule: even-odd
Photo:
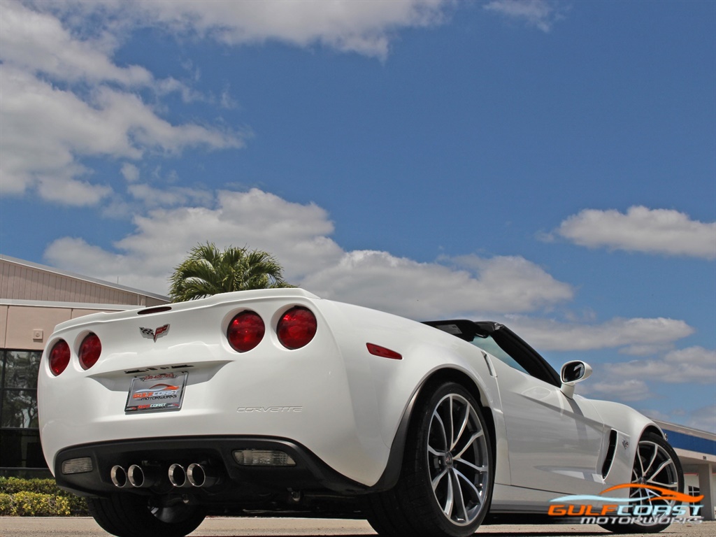
[[[0,516],[87,516],[87,502],[54,479],[0,478]]]

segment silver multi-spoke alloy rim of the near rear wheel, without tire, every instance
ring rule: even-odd
[[[457,526],[473,523],[490,484],[485,431],[473,405],[448,394],[437,403],[427,434],[427,468],[442,513]]]

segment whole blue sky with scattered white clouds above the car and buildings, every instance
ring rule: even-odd
[[[716,430],[713,1],[0,0],[0,45],[0,253],[259,248]]]

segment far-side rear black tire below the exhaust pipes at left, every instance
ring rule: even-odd
[[[153,507],[148,496],[115,493],[109,498],[87,498],[95,521],[117,537],[184,537],[205,518],[197,505]]]

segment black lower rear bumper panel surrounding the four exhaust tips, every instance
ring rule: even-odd
[[[234,457],[237,450],[279,451],[288,455],[295,465],[241,465]],[[67,472],[65,463],[73,460],[81,461],[85,465],[84,471]],[[91,465],[86,464],[88,460]],[[217,482],[209,486],[187,483],[177,487],[170,483],[168,475],[173,464],[183,468],[191,464],[211,468]],[[144,487],[130,483],[117,487],[111,478],[115,465],[125,470],[131,465],[140,465],[157,477],[153,484]],[[203,499],[215,502],[221,498],[256,498],[257,495],[285,494],[289,490],[339,495],[355,495],[369,490],[330,468],[303,445],[274,437],[187,436],[78,445],[58,453],[54,475],[60,487],[78,495],[178,494],[191,495],[200,503]]]

